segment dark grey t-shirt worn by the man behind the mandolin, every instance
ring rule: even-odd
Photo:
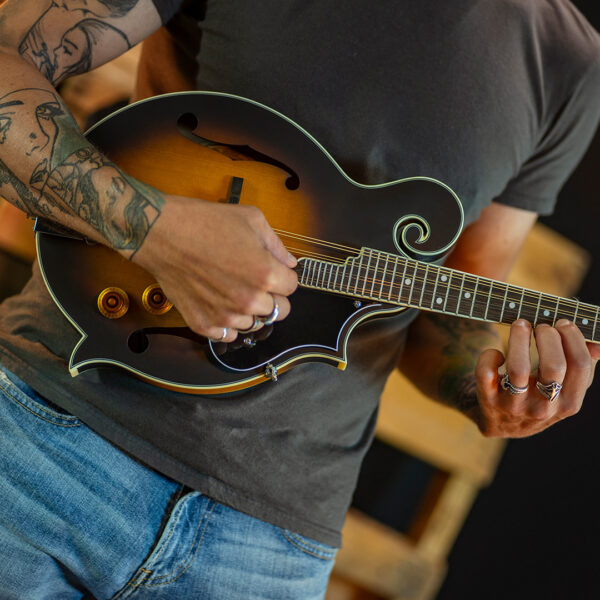
[[[155,4],[165,18],[179,9]],[[170,43],[179,64],[193,64],[192,87],[272,106],[358,181],[444,181],[467,223],[492,200],[550,212],[600,113],[600,39],[566,0],[209,0],[188,3],[169,30],[186,32]],[[147,71],[174,68],[154,59]],[[277,384],[210,399],[119,370],[72,379],[78,335],[35,269],[2,305],[0,352],[146,464],[336,545],[412,316],[361,326],[345,372],[304,364]]]

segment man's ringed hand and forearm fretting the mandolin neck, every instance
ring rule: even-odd
[[[492,204],[463,233],[447,266],[506,279],[535,217]],[[586,346],[575,325],[538,325],[534,342],[540,362],[531,374],[531,335],[529,323],[516,321],[504,356],[493,325],[422,313],[411,326],[400,366],[423,392],[469,416],[484,435],[524,437],[578,412],[600,358],[600,349]],[[512,384],[529,385],[528,392],[511,395],[499,389],[503,364]],[[537,379],[564,383],[559,398],[550,403],[539,394]]]

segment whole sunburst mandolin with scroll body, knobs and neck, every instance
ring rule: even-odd
[[[158,96],[107,117],[88,139],[169,194],[258,207],[298,259],[281,322],[225,344],[199,336],[152,275],[101,244],[39,223],[42,275],[79,331],[69,369],[127,369],[194,394],[238,392],[294,365],[344,369],[352,331],[408,308],[495,323],[575,322],[600,342],[600,307],[442,266],[463,226],[456,194],[428,177],[363,185],[298,124],[215,92]]]

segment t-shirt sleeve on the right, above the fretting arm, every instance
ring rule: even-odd
[[[600,56],[559,106],[523,163],[495,202],[549,215],[558,193],[587,150],[600,120]]]

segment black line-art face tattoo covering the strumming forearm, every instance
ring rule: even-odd
[[[17,90],[0,98],[0,195],[28,214],[75,215],[112,247],[132,250],[132,257],[164,199],[82,145],[76,131],[47,90]]]

